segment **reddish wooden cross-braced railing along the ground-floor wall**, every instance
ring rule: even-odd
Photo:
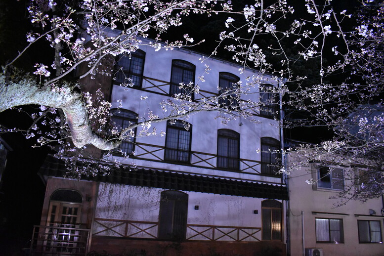
[[[121,219],[94,219],[94,236],[158,238],[158,222]],[[260,227],[187,224],[186,240],[194,241],[261,241]]]

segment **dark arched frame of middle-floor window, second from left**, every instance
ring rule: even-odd
[[[175,122],[175,124],[171,124],[172,122]],[[185,123],[189,126],[188,129],[185,128]],[[177,130],[177,149],[175,148],[171,148],[171,147],[167,147],[167,144],[168,143],[171,143],[169,142],[169,138],[170,138],[170,133],[169,130],[170,129],[174,129],[174,130]],[[188,151],[185,151],[185,150],[182,150],[182,149],[179,149],[179,146],[180,146],[180,131],[187,131],[189,133],[189,147],[188,147]],[[166,162],[173,162],[173,163],[191,163],[191,147],[192,147],[192,125],[185,122],[185,121],[181,121],[181,120],[168,120],[167,121],[167,132],[166,132],[166,143],[165,143],[165,147],[164,147],[164,161]],[[174,160],[174,159],[171,159],[171,158],[168,158],[167,157],[167,150],[172,150],[172,151],[176,151],[177,152],[177,160]],[[188,154],[188,160],[187,161],[182,161],[180,160],[179,158],[179,152],[185,152]]]

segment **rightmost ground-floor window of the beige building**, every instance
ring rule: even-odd
[[[382,243],[382,228],[379,220],[357,220],[359,243]]]

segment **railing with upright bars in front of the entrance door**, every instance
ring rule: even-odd
[[[35,225],[31,240],[31,256],[86,256],[90,232],[89,229],[76,226],[68,224]]]

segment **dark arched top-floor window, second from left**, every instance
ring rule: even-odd
[[[189,85],[191,82],[192,85]],[[182,88],[180,88],[181,83],[183,83]],[[172,60],[170,94],[191,94],[191,98],[193,99],[194,93],[191,92],[194,85],[195,65],[184,60]]]

